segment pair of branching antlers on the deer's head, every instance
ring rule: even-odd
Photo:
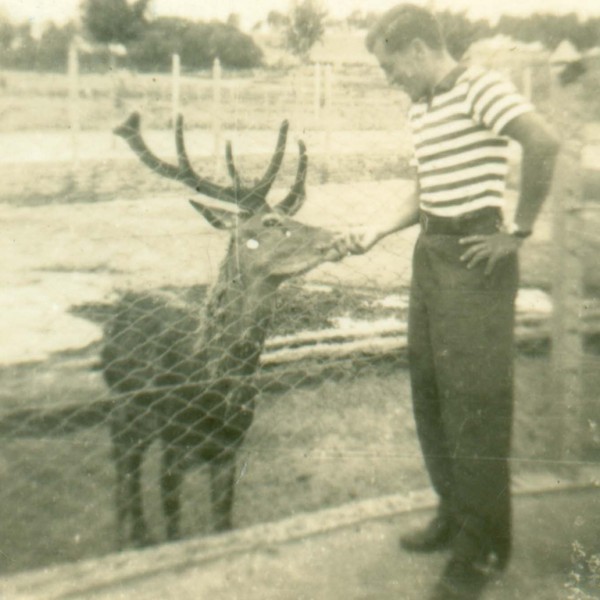
[[[185,148],[183,117],[181,115],[177,117],[175,129],[177,165],[172,165],[161,160],[148,148],[142,137],[140,124],[141,117],[139,113],[134,112],[122,125],[114,130],[114,133],[124,138],[139,159],[158,175],[180,181],[184,185],[187,185],[210,198],[236,204],[242,210],[250,213],[255,213],[261,209],[268,209],[266,197],[281,167],[283,155],[285,153],[289,127],[287,121],[284,121],[281,124],[275,153],[271,158],[265,174],[258,183],[251,188],[242,187],[241,179],[233,162],[231,143],[227,143],[225,156],[227,170],[233,180],[233,187],[224,187],[200,177],[200,175],[194,171]],[[300,162],[298,164],[296,180],[289,194],[276,207],[278,210],[287,214],[294,214],[300,208],[305,195],[304,183],[306,180],[308,159],[306,157],[306,147],[302,142],[299,143],[299,147]],[[194,205],[196,204],[197,203],[194,203]]]

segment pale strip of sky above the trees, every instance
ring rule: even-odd
[[[74,18],[81,0],[0,0],[0,12],[14,21],[34,24],[53,20],[62,23]],[[582,17],[600,15],[599,0],[412,0],[415,4],[433,3],[436,8],[467,10],[473,18],[496,20],[501,13],[527,15],[532,12],[578,12]],[[353,10],[381,12],[399,0],[321,0],[333,17],[345,17]],[[190,19],[226,19],[237,13],[241,25],[249,28],[265,19],[270,10],[287,13],[291,0],[153,0],[159,16],[175,15]]]

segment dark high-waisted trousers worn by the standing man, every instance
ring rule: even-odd
[[[492,233],[497,222],[470,233]],[[485,276],[460,261],[461,235],[422,231],[413,258],[409,364],[417,433],[440,511],[456,520],[457,552],[511,547],[517,257]]]

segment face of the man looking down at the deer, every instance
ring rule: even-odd
[[[428,90],[428,61],[422,44],[409,44],[401,51],[388,52],[385,41],[377,40],[373,54],[391,85],[398,86],[413,102],[420,100]]]

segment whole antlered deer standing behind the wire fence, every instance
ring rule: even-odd
[[[125,292],[105,324],[103,377],[118,398],[109,429],[119,548],[154,543],[141,490],[143,460],[154,441],[161,443],[167,540],[181,535],[183,477],[196,465],[209,466],[213,529],[232,528],[236,454],[253,421],[259,391],[255,374],[276,290],[290,277],[338,260],[332,232],[293,219],[306,198],[308,158],[301,140],[293,185],[274,206],[267,202],[288,127],[283,121],[264,175],[250,186],[242,182],[230,142],[225,154],[231,185],[216,184],[194,171],[181,115],[175,128],[177,164],[148,148],[139,113],[114,130],[151,171],[198,192],[201,196],[190,200],[192,206],[210,225],[229,232],[218,276],[202,305]]]

